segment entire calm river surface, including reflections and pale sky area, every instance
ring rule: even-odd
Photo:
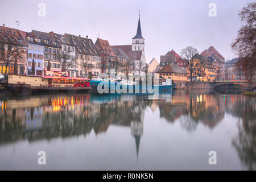
[[[212,90],[158,98],[2,92],[0,169],[255,170],[255,123],[256,98]]]

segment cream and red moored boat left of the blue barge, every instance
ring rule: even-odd
[[[9,75],[7,88],[13,92],[81,91],[89,90],[90,82],[88,78],[77,77]]]

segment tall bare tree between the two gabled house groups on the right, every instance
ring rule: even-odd
[[[183,59],[188,60],[188,71],[190,73],[190,81],[192,81],[192,75],[196,72],[198,63],[196,59],[193,59],[195,54],[198,53],[196,48],[192,46],[188,46],[181,50],[180,55]]]

